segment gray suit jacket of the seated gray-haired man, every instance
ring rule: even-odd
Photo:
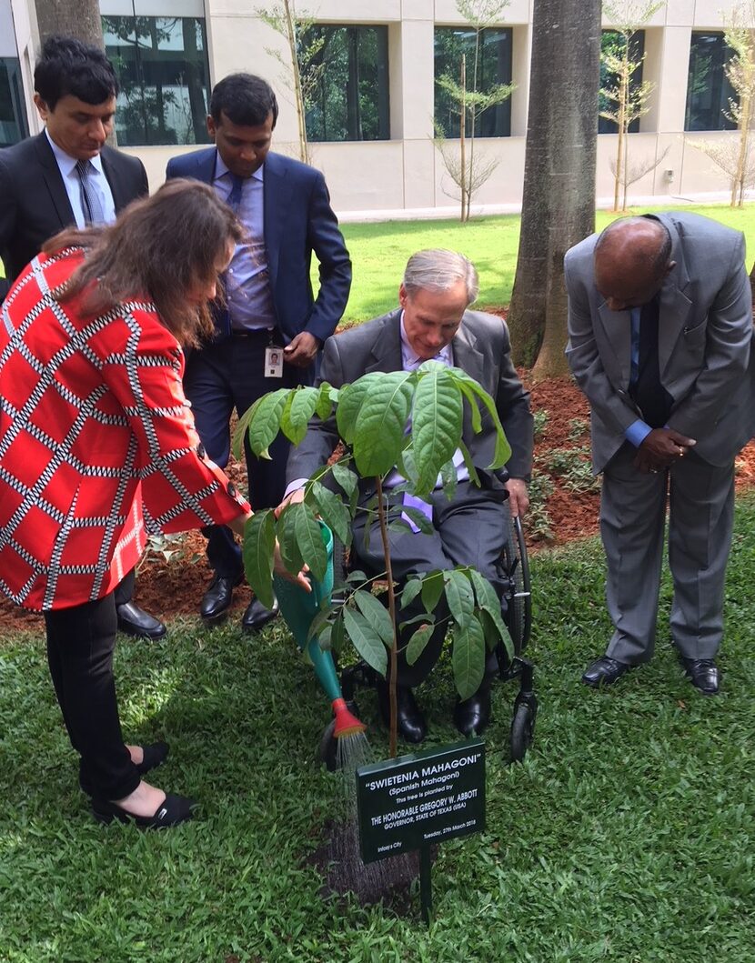
[[[402,311],[392,311],[363,325],[351,327],[325,342],[319,381],[333,387],[356,380],[372,371],[401,371]],[[533,464],[533,416],[530,394],[525,391],[511,363],[508,327],[503,319],[480,311],[465,311],[452,342],[454,364],[495,399],[511,446],[508,475],[529,479]],[[482,415],[482,431],[475,434],[467,405],[464,406],[463,440],[476,468],[493,460],[495,432],[489,415]],[[286,481],[309,478],[332,454],[338,442],[334,421],[314,418],[301,444],[292,448]]]

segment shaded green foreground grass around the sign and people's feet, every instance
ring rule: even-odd
[[[534,556],[540,714],[505,765],[511,686],[486,735],[487,829],[441,846],[436,918],[320,896],[307,862],[338,795],[314,761],[325,697],[292,638],[174,622],[123,639],[125,732],[171,743],[158,785],[200,817],[162,834],[89,817],[39,638],[0,647],[0,959],[8,963],[752,963],[755,959],[755,499],[739,505],[722,694],[706,699],[665,628],[615,690],[579,683],[609,622],[595,540]],[[456,739],[448,664],[420,691]],[[360,699],[375,723],[372,693]],[[371,725],[377,755],[384,733]]]

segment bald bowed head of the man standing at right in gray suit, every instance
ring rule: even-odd
[[[661,221],[613,221],[595,245],[595,287],[612,311],[640,307],[655,298],[671,261],[671,238]]]

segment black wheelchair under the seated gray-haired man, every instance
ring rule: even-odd
[[[513,715],[508,734],[508,760],[521,762],[534,738],[534,722],[537,716],[537,697],[534,693],[534,664],[523,656],[530,641],[533,621],[533,606],[530,582],[530,563],[525,545],[524,533],[519,518],[508,512],[508,531],[503,553],[499,562],[503,576],[503,597],[507,602],[505,622],[513,643],[513,658],[503,643],[496,649],[498,676],[502,681],[518,680],[519,691],[514,699]],[[335,541],[333,547],[333,601],[344,599],[346,577],[349,572],[348,553],[343,543]],[[340,670],[340,683],[344,699],[350,710],[358,715],[355,706],[356,690],[375,688],[377,672],[372,666],[358,662]],[[331,722],[320,742],[320,759],[328,769],[336,768],[336,740],[333,737]]]

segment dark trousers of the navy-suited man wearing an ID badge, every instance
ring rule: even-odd
[[[184,390],[192,403],[196,430],[207,455],[220,468],[225,468],[230,456],[230,418],[234,408],[242,415],[267,392],[295,388],[306,378],[306,372],[285,363],[283,377],[265,377],[265,350],[269,343],[269,331],[252,332],[192,351],[187,360]],[[279,336],[275,343],[282,343]],[[286,488],[290,447],[288,439],[278,434],[270,446],[268,460],[252,455],[245,441],[248,497],[255,511],[280,504]],[[202,532],[207,537],[207,559],[215,572],[222,578],[240,577],[241,549],[231,530],[212,525]]]

